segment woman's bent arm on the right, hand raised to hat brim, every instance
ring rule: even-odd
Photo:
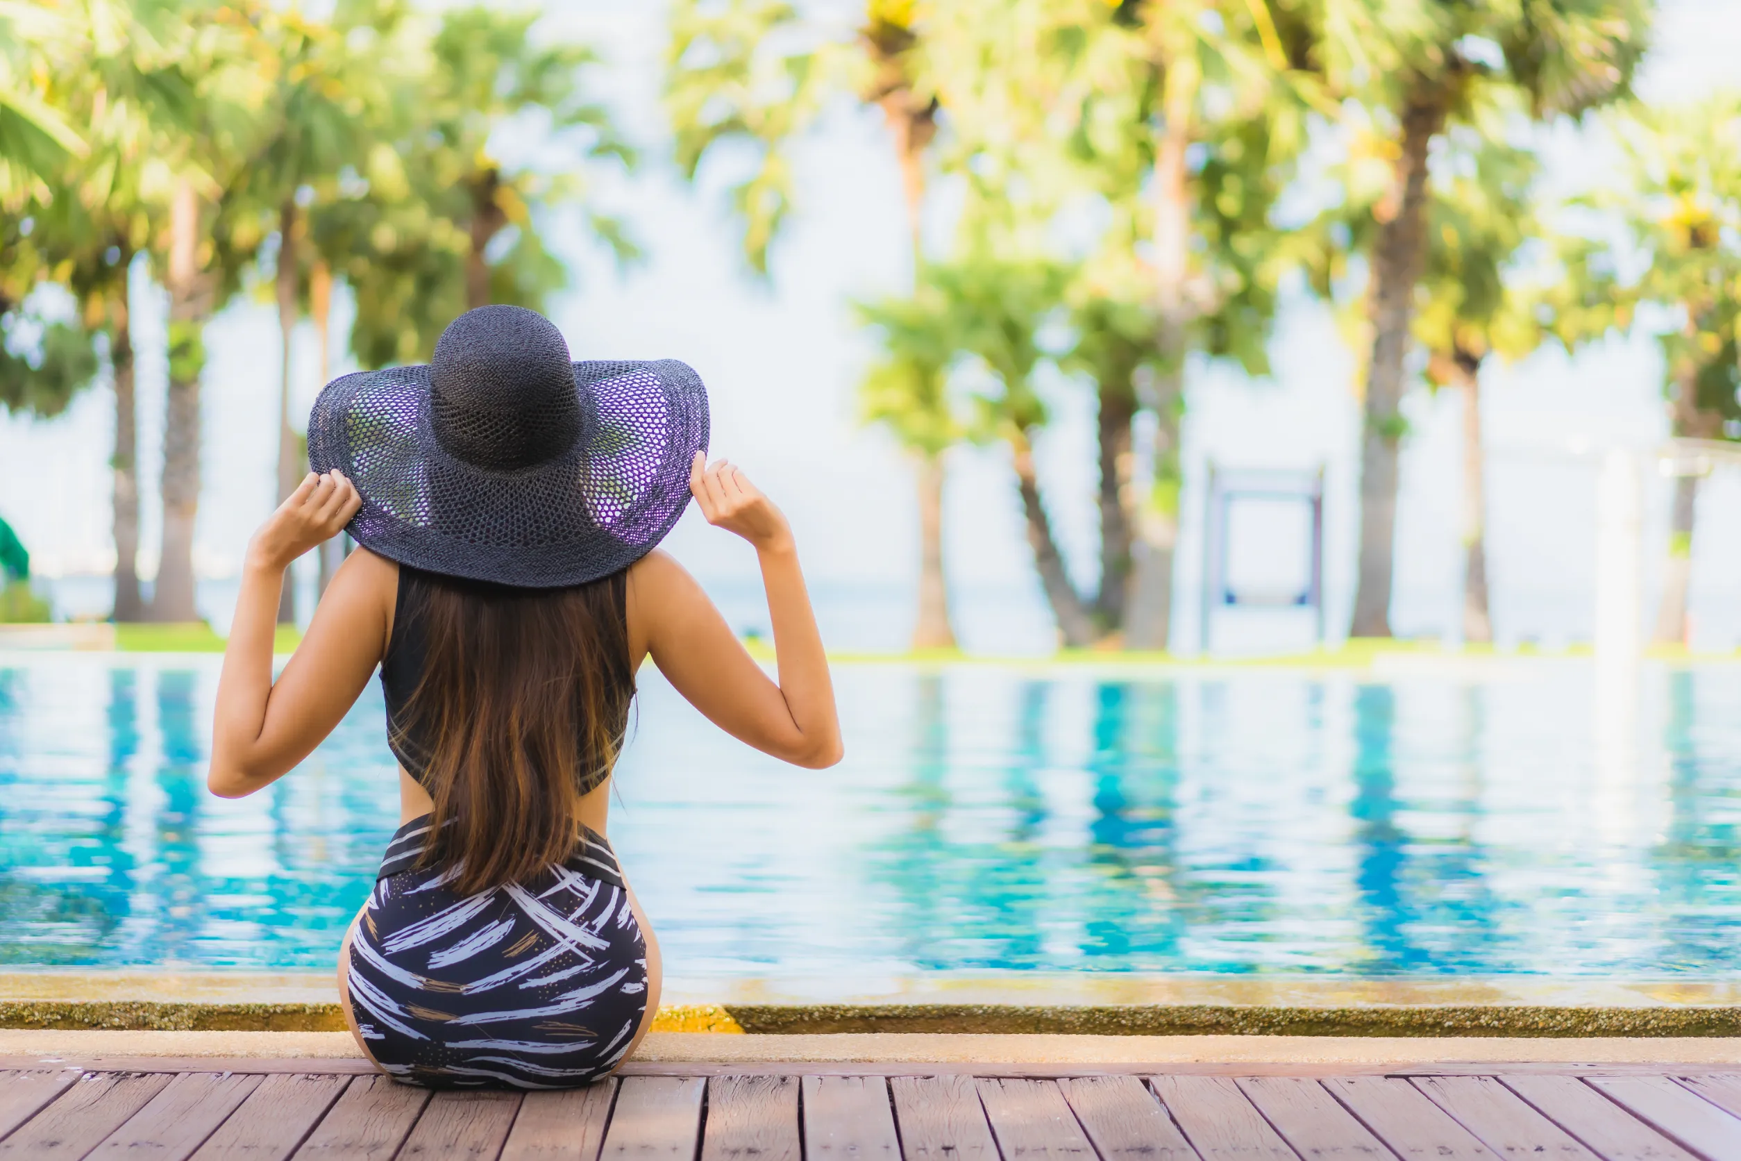
[[[841,722],[822,634],[810,609],[785,515],[729,463],[705,466],[689,489],[709,524],[750,541],[773,621],[778,684],[743,649],[681,564],[651,552],[629,571],[629,627],[635,660],[660,674],[716,726],[764,754],[820,769],[841,761]]]

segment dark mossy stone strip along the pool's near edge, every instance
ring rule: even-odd
[[[672,1004],[660,1032],[1064,1036],[1732,1037],[1741,1006]],[[341,1032],[331,1003],[0,1001],[0,1029]]]

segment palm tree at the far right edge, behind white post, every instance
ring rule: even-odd
[[[1624,181],[1583,202],[1617,218],[1623,238],[1567,238],[1563,270],[1537,310],[1569,346],[1647,327],[1663,352],[1673,435],[1741,437],[1741,96],[1612,124]],[[1647,305],[1656,310],[1640,310]],[[1687,639],[1697,493],[1696,473],[1677,473],[1656,621],[1663,644]]]

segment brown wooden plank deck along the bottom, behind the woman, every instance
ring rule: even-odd
[[[1741,1072],[1671,1065],[632,1069],[521,1095],[348,1062],[44,1062],[0,1070],[0,1158],[1741,1161]]]

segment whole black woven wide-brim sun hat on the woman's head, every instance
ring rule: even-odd
[[[427,366],[329,383],[308,466],[362,496],[346,526],[399,564],[521,588],[629,567],[689,503],[707,388],[688,366],[571,362],[543,315],[481,306]]]

